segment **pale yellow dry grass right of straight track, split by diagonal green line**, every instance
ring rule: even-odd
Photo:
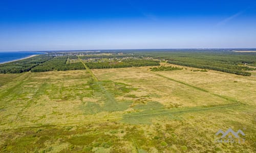
[[[147,100],[159,101],[166,106],[168,106],[168,103],[175,103],[179,106],[228,103],[227,100],[211,95],[210,93],[227,96],[231,99],[240,100],[243,103],[255,105],[254,99],[256,99],[256,78],[244,77],[213,70],[209,70],[208,72],[200,72],[191,71],[191,69],[195,68],[183,68],[183,70],[158,72],[150,71],[150,67],[94,69],[92,71],[99,80],[112,80],[131,85],[134,88],[139,88],[139,90],[129,93],[134,94],[137,97],[154,94],[157,97],[150,96],[151,99]],[[157,74],[164,75],[167,78],[181,81],[189,85],[203,88],[210,93],[204,93],[200,90],[191,89],[191,87],[167,80],[158,76]],[[118,98],[125,97],[121,96]]]

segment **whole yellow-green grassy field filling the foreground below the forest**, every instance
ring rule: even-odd
[[[0,152],[256,151],[254,72],[151,67],[0,74]]]

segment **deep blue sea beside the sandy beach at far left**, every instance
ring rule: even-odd
[[[14,60],[19,60],[27,58],[31,55],[45,54],[42,52],[0,52],[0,64],[5,62],[10,62]]]

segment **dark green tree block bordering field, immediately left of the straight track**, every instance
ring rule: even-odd
[[[31,72],[45,72],[45,71],[66,71],[66,70],[78,70],[85,69],[81,62],[67,63],[69,57],[55,57],[50,61],[42,63],[31,69]]]

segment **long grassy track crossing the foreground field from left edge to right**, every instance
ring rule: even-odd
[[[88,123],[97,123],[97,122],[104,122],[104,121],[117,121],[120,120],[121,122],[125,123],[132,123],[132,124],[148,124],[152,123],[150,120],[152,117],[157,116],[168,116],[168,115],[180,115],[184,113],[196,113],[202,111],[210,111],[210,110],[222,110],[222,109],[231,109],[234,107],[244,106],[241,103],[235,104],[226,104],[226,105],[216,105],[211,107],[188,107],[188,108],[180,108],[180,109],[149,109],[143,110],[141,112],[133,112],[133,113],[118,113],[118,114],[108,114],[104,116],[97,116],[93,118],[87,118],[84,121],[79,122],[67,122],[67,123],[52,123],[52,124],[31,124],[31,125],[17,125],[15,127],[8,127],[7,129],[1,129],[1,131],[15,131],[15,130],[25,130],[25,129],[36,129],[40,127],[61,127],[65,125],[78,125],[78,124],[88,124]],[[143,119],[141,119],[141,117]],[[133,122],[134,120],[131,118],[141,119],[139,122]],[[136,119],[137,118],[137,119]]]

